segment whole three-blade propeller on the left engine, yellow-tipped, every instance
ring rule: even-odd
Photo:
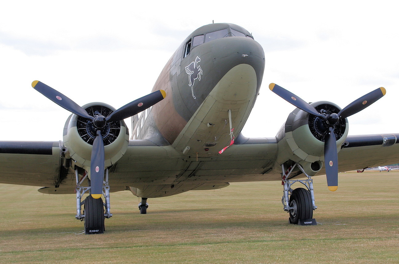
[[[97,135],[93,142],[93,149],[91,150],[90,182],[91,196],[95,199],[100,198],[103,194],[105,149],[101,131],[107,126],[107,122],[120,121],[124,118],[134,116],[166,97],[164,90],[158,90],[122,106],[109,114],[109,116],[90,116],[85,109],[76,104],[73,100],[48,85],[40,81],[34,81],[32,82],[32,87],[59,106],[93,122],[95,130],[97,130]]]

